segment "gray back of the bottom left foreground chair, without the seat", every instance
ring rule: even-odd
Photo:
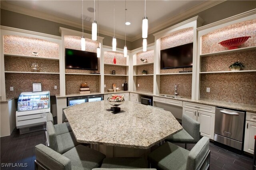
[[[35,169],[44,170],[71,170],[71,161],[62,154],[43,144],[35,146]]]

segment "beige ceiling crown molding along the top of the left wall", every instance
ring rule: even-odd
[[[57,23],[60,23],[60,24],[64,24],[64,25],[68,25],[68,26],[72,26],[72,27],[82,29],[82,26],[81,26],[82,24],[80,22],[73,21],[73,20],[63,18],[63,17],[60,17],[60,16],[54,16],[54,15],[51,15],[51,14],[47,14],[45,12],[40,12],[40,11],[37,11],[37,10],[33,10],[33,9],[30,9],[30,8],[18,6],[18,5],[15,5],[15,4],[10,4],[10,3],[6,2],[6,0],[1,0],[1,9],[12,11],[12,12],[17,12],[17,13],[20,13],[20,14],[24,14],[24,15],[40,18],[40,19],[43,19],[43,20],[57,22]],[[84,30],[92,31],[91,26],[88,26],[88,25],[84,25]],[[99,28],[99,34],[104,34],[106,36],[111,36],[112,37],[114,33],[111,32],[111,31]],[[122,35],[122,34],[116,33],[115,36],[118,39],[125,40],[125,36]],[[126,36],[126,40],[131,41],[132,38]]]

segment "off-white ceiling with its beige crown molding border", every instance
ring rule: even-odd
[[[115,36],[124,39],[124,0],[96,0],[96,21],[100,33],[114,36],[114,2]],[[221,2],[223,1],[147,0],[148,32],[150,34]],[[130,26],[126,26],[126,39],[128,41],[142,37],[144,3],[144,0],[126,0],[126,21],[131,23]],[[1,8],[82,28],[82,0],[1,0]],[[94,20],[94,13],[89,12],[88,8],[94,8],[93,0],[84,0],[84,28],[86,30],[91,29]]]

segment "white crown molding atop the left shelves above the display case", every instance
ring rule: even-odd
[[[50,34],[44,34],[44,33],[40,33],[40,32],[22,30],[22,29],[19,29],[19,28],[12,28],[12,27],[7,27],[7,26],[0,26],[0,28],[1,28],[1,30],[20,32],[20,33],[24,33],[24,34],[31,34],[31,35],[35,35],[35,36],[42,36],[42,37],[54,38],[54,39],[61,40],[60,36],[53,36],[53,35],[50,35]]]

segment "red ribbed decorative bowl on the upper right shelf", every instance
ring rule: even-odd
[[[249,38],[251,38],[251,36],[232,38],[229,40],[219,42],[219,44],[223,47],[228,47],[228,49],[237,49],[239,45],[246,42]]]

